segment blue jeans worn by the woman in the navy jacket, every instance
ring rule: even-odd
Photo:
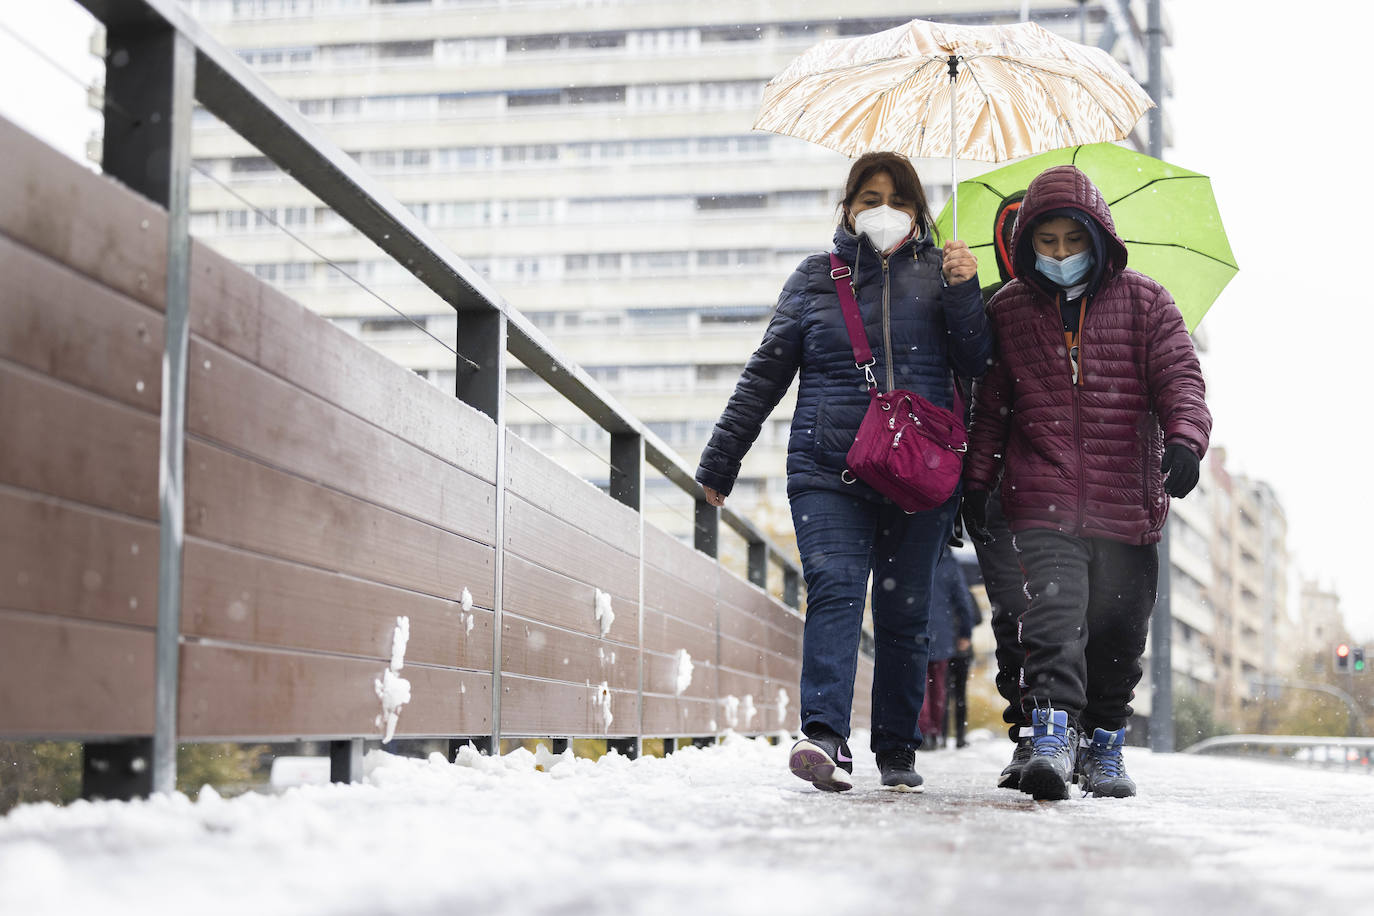
[[[959,505],[907,515],[894,504],[835,490],[791,497],[791,520],[807,580],[801,645],[801,726],[849,737],[864,593],[872,573],[872,750],[921,746],[930,595],[936,562]]]

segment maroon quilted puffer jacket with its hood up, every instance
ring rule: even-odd
[[[1062,293],[1036,272],[1028,231],[1059,207],[1091,216],[1106,244],[1079,339],[1081,385],[1065,347]],[[965,485],[995,488],[1004,456],[1002,507],[1013,531],[1154,544],[1168,515],[1164,444],[1202,457],[1212,433],[1183,316],[1168,290],[1127,269],[1106,201],[1073,166],[1030,183],[1011,249],[1018,279],[988,306],[998,353],[974,391]]]

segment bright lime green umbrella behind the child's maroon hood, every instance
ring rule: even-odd
[[[959,229],[978,255],[984,282],[996,269],[993,222],[1003,201],[1055,165],[1076,165],[1092,179],[1112,206],[1129,266],[1162,283],[1189,331],[1195,330],[1237,271],[1212,183],[1205,174],[1112,143],[1051,150],[959,183]],[[952,238],[949,203],[936,227]]]

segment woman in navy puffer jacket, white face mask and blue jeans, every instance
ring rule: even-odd
[[[992,338],[977,261],[962,242],[947,242],[943,254],[934,246],[926,195],[905,157],[871,152],[853,163],[834,251],[852,269],[878,383],[886,390],[914,390],[949,408],[951,365],[960,375],[981,375]],[[907,515],[845,474],[845,455],[868,408],[868,393],[855,365],[829,254],[808,257],[783,286],[763,343],[702,452],[697,482],[712,505],[724,504],[745,452],[798,371],[787,497],[807,580],[805,737],[791,750],[791,770],[827,791],[853,786],[845,742],[871,574],[871,744],[883,786],[919,791],[915,748],[921,746],[916,717],[925,695],[926,621],[936,560],[949,537],[958,496]]]

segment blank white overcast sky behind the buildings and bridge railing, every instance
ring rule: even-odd
[[[1374,34],[1374,11],[1342,0],[1309,0],[1300,19],[1292,4],[1175,0],[1167,10],[1167,158],[1212,177],[1241,265],[1202,321],[1213,444],[1232,471],[1282,499],[1294,585],[1315,575],[1336,588],[1356,636],[1374,641],[1363,371],[1374,365],[1374,320],[1370,280],[1338,273],[1371,260],[1356,250],[1356,227],[1374,81],[1367,55],[1336,41]],[[85,51],[89,22],[74,3],[0,5],[0,26],[87,78],[99,71]],[[3,29],[0,85],[0,113],[81,155],[99,124],[84,93]]]

